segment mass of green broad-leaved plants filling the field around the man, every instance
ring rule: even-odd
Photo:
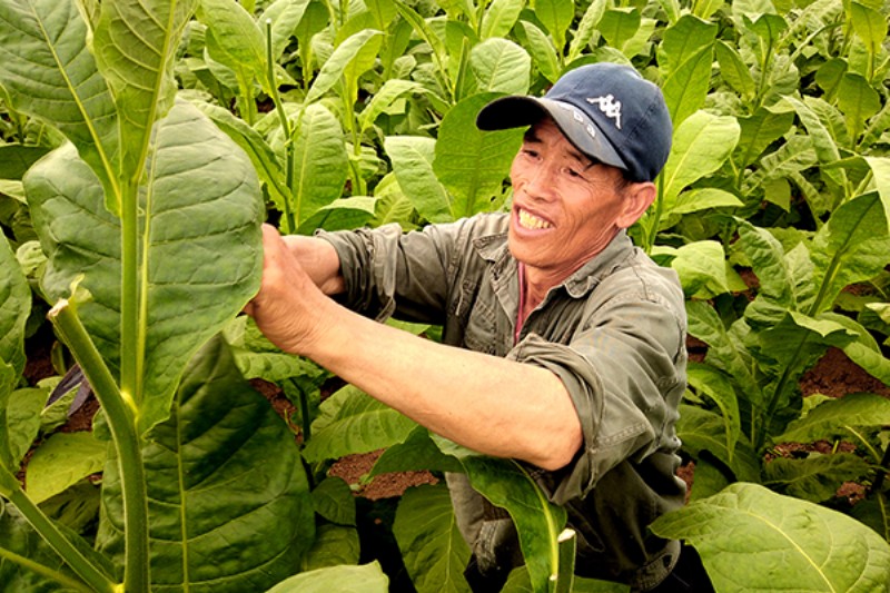
[[[522,131],[477,130],[481,107],[603,60],[664,91],[673,150],[632,235],[706,345],[678,427],[692,502],[652,528],[718,591],[884,591],[890,399],[800,389],[829,348],[890,384],[880,0],[2,0],[0,590],[466,591],[444,484],[386,508],[404,574],[374,562],[328,470],[385,448],[370,475],[465,473],[511,513],[526,566],[505,591],[625,591],[573,577],[565,513],[522,465],[350,386],[322,403],[330,377],[238,316],[264,220],[504,208]],[[58,376],[31,385],[48,337]],[[87,386],[92,431],[58,431]]]

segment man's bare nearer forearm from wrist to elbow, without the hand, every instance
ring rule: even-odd
[[[575,408],[551,372],[324,307],[325,327],[300,354],[431,431],[545,470],[566,465],[581,446]]]

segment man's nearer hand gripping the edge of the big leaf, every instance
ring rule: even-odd
[[[270,225],[263,225],[263,281],[244,312],[273,344],[304,354],[323,335],[323,310],[332,302]]]

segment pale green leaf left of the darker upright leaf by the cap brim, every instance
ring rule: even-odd
[[[431,223],[454,220],[451,198],[433,172],[436,141],[419,136],[388,136],[384,148],[399,187],[417,213]]]

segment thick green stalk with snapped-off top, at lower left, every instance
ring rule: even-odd
[[[127,268],[125,267],[125,270]],[[136,307],[136,304],[132,304]],[[90,339],[71,303],[61,300],[49,318],[71,348],[96,398],[105,411],[118,453],[123,496],[125,572],[127,593],[149,591],[148,491],[142,462],[141,439],[136,428],[136,406],[126,392],[118,389],[111,372]]]

